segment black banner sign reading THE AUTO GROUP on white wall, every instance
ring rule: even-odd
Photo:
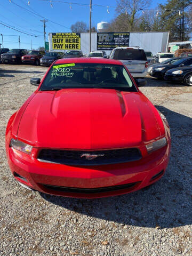
[[[113,50],[115,47],[129,46],[130,33],[97,33],[97,50]]]

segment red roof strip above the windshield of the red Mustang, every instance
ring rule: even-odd
[[[112,65],[122,65],[123,63],[119,60],[102,59],[102,58],[69,58],[69,59],[59,59],[54,62],[54,64],[65,64],[65,63],[101,63],[101,64],[112,64]]]

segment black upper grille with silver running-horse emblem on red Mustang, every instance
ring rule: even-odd
[[[38,155],[41,162],[67,165],[102,165],[137,161],[141,159],[138,148],[110,150],[58,150],[42,149]]]

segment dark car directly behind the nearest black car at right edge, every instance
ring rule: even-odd
[[[175,61],[174,63],[165,64],[165,65],[158,65],[154,68],[152,68],[149,72],[150,76],[160,78],[162,79],[166,73],[167,70],[172,68],[178,68],[183,66],[190,66],[192,64],[192,58],[181,58],[178,61]]]

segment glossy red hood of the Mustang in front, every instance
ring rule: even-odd
[[[142,93],[63,89],[36,93],[21,117],[18,139],[37,147],[109,149],[164,133],[161,117]]]

